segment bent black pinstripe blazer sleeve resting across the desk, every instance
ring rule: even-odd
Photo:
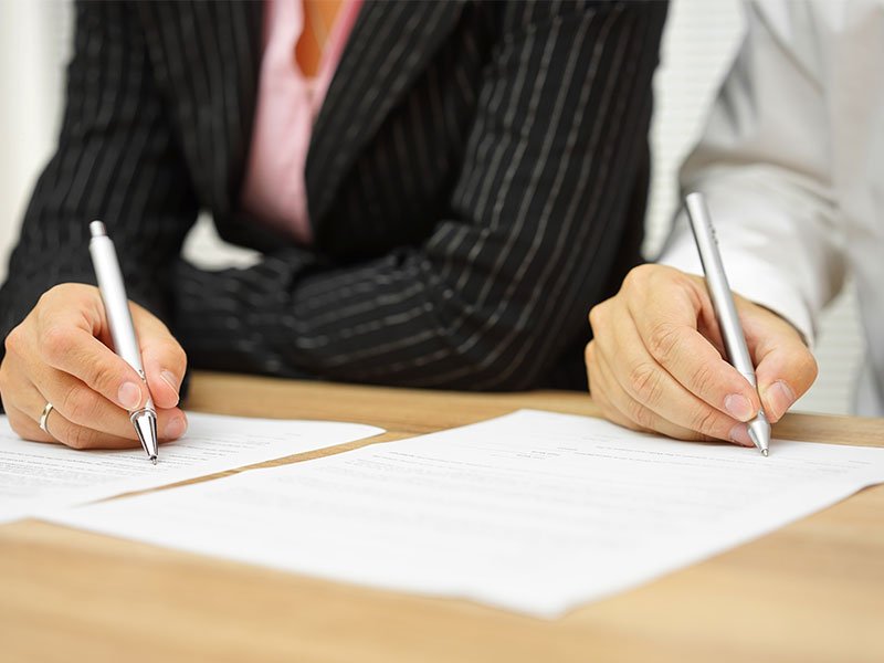
[[[522,389],[588,337],[646,150],[666,8],[508,7],[518,17],[477,91],[450,214],[359,264],[305,266],[281,250],[246,270],[180,265],[192,366]]]

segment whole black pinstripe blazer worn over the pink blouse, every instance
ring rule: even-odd
[[[130,297],[191,366],[583,387],[586,313],[639,261],[665,4],[367,2],[314,127],[312,248],[239,204],[261,11],[77,6],[59,150],[0,291],[0,333],[50,286],[94,282],[87,222],[103,219]],[[182,262],[200,210],[259,264]]]

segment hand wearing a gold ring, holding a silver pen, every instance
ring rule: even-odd
[[[129,304],[160,441],[187,430],[178,389],[187,358],[168,328]],[[148,392],[138,373],[110,349],[110,329],[98,288],[56,285],[6,338],[0,394],[12,429],[39,442],[74,449],[138,446],[127,410],[144,407]],[[39,427],[46,402],[46,431]]]

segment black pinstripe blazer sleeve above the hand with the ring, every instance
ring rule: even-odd
[[[36,182],[0,290],[0,336],[53,285],[95,283],[95,219],[116,243],[129,298],[167,318],[171,265],[197,214],[183,164],[134,8],[76,3],[59,147]]]

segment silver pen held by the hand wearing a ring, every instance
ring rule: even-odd
[[[126,287],[123,285],[123,273],[119,270],[117,252],[114,243],[107,236],[104,223],[93,221],[90,223],[90,254],[98,278],[98,290],[102,293],[107,322],[110,325],[110,337],[114,339],[114,351],[131,366],[141,377],[141,382],[147,390],[147,402],[139,410],[129,412],[129,419],[135,425],[135,432],[147,452],[148,457],[157,464],[157,412],[147,388],[145,369],[141,366],[141,351],[138,349],[138,337],[129,313],[129,299]]]

